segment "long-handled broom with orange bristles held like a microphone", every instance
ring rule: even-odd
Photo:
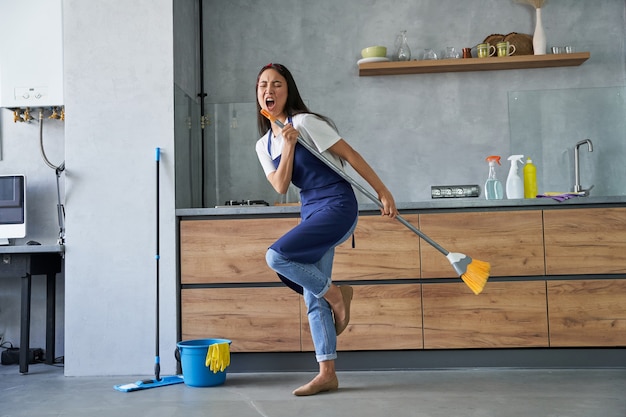
[[[268,118],[272,123],[276,123],[276,125],[280,128],[284,127],[284,124],[272,116],[267,110],[262,109],[261,114]],[[324,162],[330,169],[335,171],[339,176],[341,176],[344,180],[348,181],[352,184],[356,189],[358,189],[361,193],[363,193],[366,197],[372,200],[378,207],[383,208],[383,203],[376,198],[376,196],[369,191],[367,191],[361,184],[356,182],[352,177],[346,174],[343,170],[335,166],[328,158],[322,155],[317,149],[313,146],[309,145],[301,135],[298,135],[298,142],[304,146],[309,152],[315,155],[319,160]],[[479,261],[476,259],[472,259],[467,255],[462,253],[450,252],[444,249],[437,242],[428,237],[424,232],[413,226],[409,223],[404,217],[397,215],[396,219],[408,227],[412,232],[417,234],[419,237],[428,242],[432,247],[441,252],[454,268],[457,274],[460,275],[463,282],[474,292],[474,294],[478,295],[482,292],[485,284],[487,284],[487,280],[489,279],[489,272],[491,270],[491,265],[488,262]]]

